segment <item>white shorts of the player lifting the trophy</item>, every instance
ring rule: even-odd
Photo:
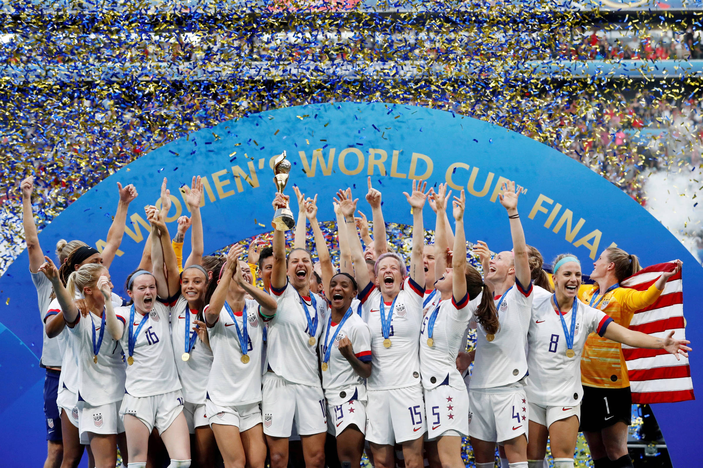
[[[322,387],[294,384],[272,372],[263,378],[264,434],[290,437],[293,420],[298,434],[327,432],[327,408]]]

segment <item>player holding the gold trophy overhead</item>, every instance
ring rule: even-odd
[[[277,193],[274,208],[285,206],[288,199]],[[312,272],[310,253],[297,248],[286,258],[285,235],[274,231],[271,293],[278,307],[269,320],[262,395],[272,468],[288,464],[288,437],[294,420],[307,467],[322,468],[325,464],[327,415],[317,342],[326,304],[323,297],[310,292]]]

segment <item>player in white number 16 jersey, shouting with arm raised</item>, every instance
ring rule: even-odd
[[[156,427],[171,463],[169,468],[191,466],[188,423],[183,415],[183,394],[174,361],[169,329],[169,307],[163,302],[179,288],[175,254],[171,248],[163,215],[150,210],[153,265],[169,267],[167,281],[163,268],[154,273],[138,270],[127,278],[130,307],[108,310],[110,335],[120,340],[127,354],[126,392],[120,415],[127,432],[129,468],[146,467],[149,434]],[[166,257],[165,259],[163,257]]]

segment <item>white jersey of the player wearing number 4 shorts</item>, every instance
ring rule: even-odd
[[[498,297],[496,308],[500,326],[493,341],[486,340],[486,330],[480,324],[477,326],[472,389],[503,387],[522,380],[527,374],[525,348],[533,289],[532,283],[527,289],[522,288],[516,279],[515,285]]]

